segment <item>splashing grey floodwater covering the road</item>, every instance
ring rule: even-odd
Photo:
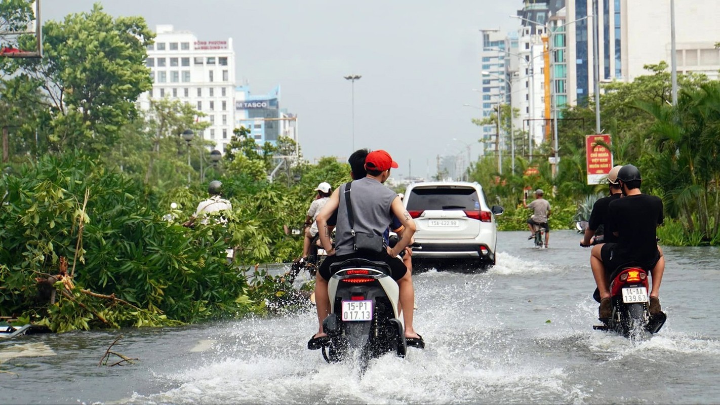
[[[662,330],[595,331],[590,250],[572,231],[536,249],[500,232],[487,273],[414,277],[426,350],[327,364],[305,348],[312,310],[166,329],[0,342],[4,404],[714,404],[720,401],[720,250],[665,247]],[[113,350],[135,365],[98,367]],[[5,371],[6,373],[2,372]],[[7,373],[9,372],[9,373]]]

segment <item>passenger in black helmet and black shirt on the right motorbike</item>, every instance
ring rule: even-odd
[[[657,226],[662,224],[662,200],[640,192],[640,171],[624,165],[618,172],[623,197],[608,204],[608,216],[616,243],[595,245],[590,257],[595,283],[600,292],[598,317],[611,317],[608,276],[619,266],[634,262],[652,274],[650,314],[660,312],[660,282],[665,271],[665,258],[657,245]]]

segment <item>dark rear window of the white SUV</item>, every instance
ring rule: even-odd
[[[480,209],[474,188],[413,188],[408,211],[426,209]]]

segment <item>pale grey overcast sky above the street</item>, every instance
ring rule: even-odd
[[[43,1],[42,19],[88,12],[94,0]],[[355,148],[384,149],[393,177],[433,176],[438,155],[480,153],[478,29],[518,28],[521,0],[105,0],[105,12],[173,24],[199,40],[235,45],[236,78],[251,94],[282,86],[311,162]],[[238,83],[239,84],[239,83]],[[457,138],[460,141],[453,140]],[[464,142],[464,143],[463,143]]]

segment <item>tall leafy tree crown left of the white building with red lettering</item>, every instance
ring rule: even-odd
[[[120,127],[137,115],[138,96],[152,87],[145,47],[153,32],[142,17],[113,19],[99,4],[42,30],[44,57],[9,61],[5,72],[24,73],[42,89],[55,150],[112,147]]]

